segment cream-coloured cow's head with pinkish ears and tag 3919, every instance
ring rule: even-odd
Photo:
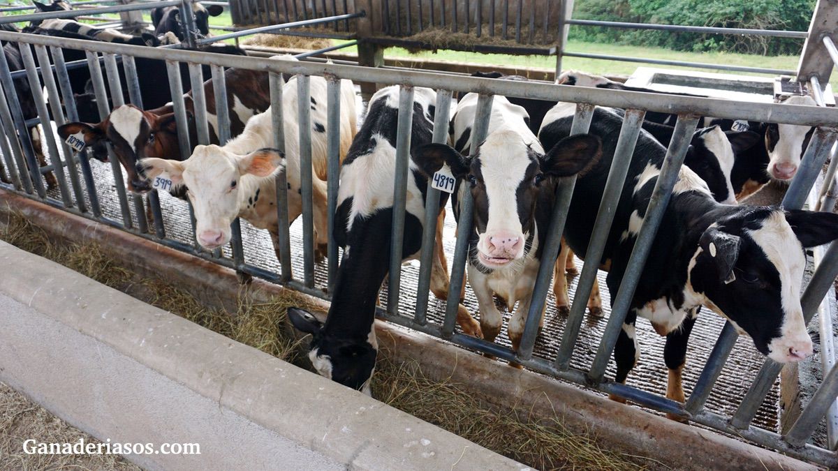
[[[137,171],[148,179],[163,176],[172,180],[173,186],[187,189],[194,209],[195,237],[201,246],[213,250],[230,241],[230,224],[251,196],[239,191],[242,178],[272,178],[284,165],[282,153],[274,149],[239,155],[213,144],[197,146],[183,162],[143,158]],[[258,181],[247,182],[254,183]]]

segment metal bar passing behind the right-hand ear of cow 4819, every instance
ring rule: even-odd
[[[577,104],[576,113],[573,116],[571,135],[583,134],[591,127],[593,117],[592,105],[587,103]],[[638,131],[639,132],[639,131]],[[538,275],[535,277],[530,298],[530,307],[527,310],[527,317],[524,324],[524,334],[521,336],[518,347],[518,358],[530,360],[532,349],[535,346],[535,335],[538,334],[538,325],[541,323],[541,314],[547,298],[547,291],[550,289],[550,282],[553,279],[553,266],[556,257],[559,256],[561,246],[561,235],[565,230],[567,219],[567,207],[571,204],[573,189],[576,187],[576,177],[561,179],[556,187],[556,202],[553,204],[553,212],[550,219],[550,226],[547,229],[547,240],[541,250],[541,265],[538,268]],[[620,187],[622,189],[622,187]],[[589,258],[589,260],[595,260]]]

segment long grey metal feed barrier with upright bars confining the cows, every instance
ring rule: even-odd
[[[179,2],[166,2],[175,4]],[[158,3],[159,6],[162,3]],[[114,8],[137,8],[134,5],[120,6]],[[148,8],[147,6],[145,8]],[[125,11],[124,9],[122,11]],[[52,17],[54,18],[54,17]],[[8,18],[3,18],[7,20]],[[320,18],[318,18],[320,19]],[[327,20],[331,21],[331,20]],[[246,33],[243,33],[246,34]],[[134,235],[157,241],[165,246],[199,256],[209,261],[214,261],[224,267],[230,267],[244,275],[261,277],[272,282],[282,283],[287,287],[305,292],[318,298],[329,298],[329,292],[334,287],[334,278],[338,263],[339,251],[334,240],[331,238],[331,228],[334,225],[333,215],[338,194],[338,179],[334,177],[328,181],[328,214],[329,214],[329,240],[328,240],[328,276],[325,282],[318,283],[315,278],[315,263],[313,253],[313,202],[311,199],[312,166],[310,149],[310,126],[299,127],[298,136],[284,136],[283,116],[286,113],[297,113],[300,122],[308,121],[308,106],[302,106],[299,110],[282,109],[282,78],[281,74],[297,75],[298,93],[302,96],[301,103],[308,104],[308,76],[320,75],[328,80],[328,174],[339,174],[339,133],[336,123],[339,122],[339,80],[349,79],[356,82],[366,81],[379,84],[401,85],[401,104],[411,101],[412,89],[415,86],[427,86],[437,90],[437,116],[435,117],[433,137],[435,142],[446,142],[448,128],[448,111],[454,92],[477,91],[480,93],[478,101],[477,117],[473,126],[475,142],[484,139],[487,128],[489,111],[494,95],[518,96],[549,101],[567,101],[577,103],[576,115],[573,120],[572,132],[587,132],[592,119],[593,106],[613,106],[627,110],[623,119],[623,127],[619,133],[617,144],[617,158],[614,159],[613,168],[608,178],[608,186],[603,194],[599,213],[594,230],[594,238],[591,242],[589,260],[597,260],[601,257],[604,247],[602,235],[608,232],[608,227],[613,219],[613,208],[618,198],[619,190],[622,188],[626,178],[629,164],[629,156],[633,152],[634,144],[639,136],[640,125],[643,122],[646,111],[660,111],[675,113],[678,121],[675,126],[675,135],[667,150],[667,158],[660,172],[660,177],[655,186],[653,196],[649,202],[643,225],[638,235],[634,251],[629,261],[629,270],[623,280],[623,285],[613,295],[613,309],[608,318],[608,324],[599,344],[591,365],[587,368],[580,368],[571,365],[571,360],[578,354],[574,350],[579,346],[579,336],[582,318],[584,315],[587,294],[590,292],[592,282],[596,275],[596,267],[593,263],[586,263],[582,269],[579,281],[579,288],[572,303],[571,313],[567,319],[567,328],[561,339],[560,349],[555,357],[546,357],[534,353],[534,345],[538,330],[538,320],[541,308],[546,301],[546,294],[552,276],[552,266],[544,263],[535,282],[533,302],[530,306],[530,313],[525,325],[525,332],[521,340],[520,349],[513,351],[500,344],[493,344],[482,339],[458,333],[455,330],[457,304],[459,292],[464,283],[464,266],[467,255],[468,231],[471,230],[470,221],[473,210],[470,195],[463,202],[461,220],[458,226],[458,239],[452,262],[452,277],[447,308],[444,317],[437,322],[428,314],[431,313],[428,302],[428,287],[430,285],[430,267],[433,255],[434,232],[436,229],[436,217],[430,214],[425,221],[422,238],[421,265],[418,287],[416,288],[416,307],[411,314],[400,312],[398,299],[401,291],[401,256],[399,250],[392,251],[391,274],[388,283],[388,303],[386,309],[380,309],[380,316],[392,323],[397,323],[411,329],[447,339],[454,344],[476,349],[481,352],[497,356],[502,360],[515,361],[530,370],[535,370],[546,375],[552,375],[562,380],[569,380],[578,385],[591,387],[597,391],[613,393],[623,396],[642,406],[647,406],[657,411],[670,412],[680,417],[685,417],[692,422],[712,427],[721,432],[735,436],[744,437],[753,443],[777,449],[789,455],[825,464],[827,466],[838,465],[838,456],[834,450],[820,448],[806,441],[815,430],[816,425],[827,414],[830,407],[835,404],[835,396],[838,396],[838,369],[831,368],[825,373],[825,379],[815,396],[804,407],[799,419],[784,436],[776,432],[756,427],[752,424],[754,413],[757,407],[763,402],[768,389],[773,385],[779,374],[781,365],[773,360],[765,360],[763,370],[758,375],[747,394],[739,404],[739,409],[732,416],[720,415],[706,408],[706,401],[716,378],[725,364],[727,355],[732,349],[736,333],[729,326],[722,331],[716,348],[713,350],[701,379],[696,384],[686,404],[671,401],[663,396],[644,391],[634,386],[615,384],[605,379],[606,367],[612,355],[614,343],[619,329],[621,329],[629,301],[633,297],[634,288],[637,286],[639,273],[644,265],[646,256],[651,248],[657,226],[660,224],[663,210],[669,199],[671,190],[677,179],[680,165],[683,163],[689,137],[696,129],[698,116],[718,116],[732,119],[744,119],[757,122],[783,122],[804,126],[818,127],[813,134],[810,146],[804,154],[803,162],[799,168],[798,175],[789,188],[784,199],[784,206],[789,209],[803,206],[807,194],[813,188],[820,169],[826,159],[830,156],[830,149],[835,143],[835,124],[838,123],[838,110],[825,107],[810,106],[789,106],[778,104],[747,103],[737,101],[725,101],[710,98],[697,98],[692,96],[665,96],[657,94],[641,94],[631,91],[610,91],[601,89],[589,89],[572,86],[558,86],[545,82],[520,82],[505,80],[489,80],[461,75],[443,75],[422,71],[396,70],[366,67],[353,65],[332,65],[318,64],[313,62],[296,62],[277,59],[259,59],[254,57],[242,57],[233,55],[209,54],[180,49],[145,48],[138,46],[127,46],[122,44],[110,44],[95,41],[84,41],[75,39],[61,39],[46,36],[34,36],[28,34],[14,34],[0,32],[0,39],[16,41],[21,45],[23,62],[26,69],[26,77],[32,88],[32,93],[38,105],[38,114],[41,122],[47,123],[51,119],[58,125],[65,122],[64,110],[60,103],[66,105],[66,118],[75,121],[77,115],[72,100],[70,81],[67,74],[67,64],[62,55],[62,48],[80,49],[86,51],[86,65],[91,70],[94,89],[96,92],[99,111],[104,118],[110,112],[107,107],[107,97],[110,96],[114,106],[122,105],[125,97],[122,96],[122,84],[120,83],[117,57],[122,58],[122,68],[127,77],[128,99],[131,103],[142,106],[139,94],[139,81],[144,77],[137,77],[135,57],[147,59],[165,60],[168,66],[169,86],[173,95],[173,106],[177,116],[178,134],[181,137],[180,146],[184,155],[189,155],[190,142],[187,132],[186,111],[184,107],[183,92],[180,69],[178,62],[189,64],[189,78],[194,91],[195,122],[197,124],[197,138],[201,144],[209,143],[209,131],[206,127],[207,114],[204,108],[206,97],[203,96],[201,84],[204,77],[201,76],[200,65],[210,65],[212,80],[215,85],[215,100],[218,103],[218,122],[220,124],[220,141],[223,144],[229,138],[230,117],[227,116],[225,106],[226,96],[221,93],[225,89],[223,74],[225,67],[235,67],[248,70],[267,70],[270,72],[271,80],[271,101],[272,120],[276,147],[284,149],[286,139],[298,139],[303,152],[301,158],[302,181],[303,181],[303,253],[292,253],[292,234],[289,229],[287,204],[278,204],[277,215],[279,218],[279,242],[282,256],[281,267],[278,271],[266,270],[253,263],[252,254],[247,255],[248,246],[243,243],[241,224],[238,220],[232,226],[233,238],[230,251],[216,251],[208,253],[202,251],[197,244],[186,243],[174,238],[171,233],[167,234],[166,220],[174,215],[163,213],[161,210],[161,195],[156,191],[147,194],[146,197],[137,194],[127,194],[123,182],[122,168],[111,156],[111,173],[115,186],[116,196],[107,189],[97,186],[94,173],[91,170],[91,163],[85,153],[74,155],[70,148],[56,139],[53,132],[46,127],[45,142],[47,151],[52,162],[58,180],[59,193],[48,194],[44,188],[42,171],[36,161],[32,143],[29,141],[27,122],[23,120],[23,114],[18,103],[18,96],[13,88],[13,76],[9,72],[8,63],[5,58],[0,60],[0,86],[3,94],[0,94],[0,124],[8,140],[0,139],[0,153],[3,154],[4,163],[12,184],[0,184],[3,189],[25,194],[32,199],[42,201],[54,207],[66,210],[75,215],[81,215],[91,220],[111,225],[122,230],[131,232]],[[30,47],[31,44],[31,47]],[[49,49],[48,49],[49,48]],[[34,53],[33,53],[34,49]],[[34,54],[34,55],[33,55]],[[101,57],[100,57],[101,54]],[[51,60],[50,60],[51,56]],[[40,68],[36,67],[34,57],[39,60]],[[107,80],[101,72],[100,60],[103,60],[107,73]],[[52,64],[52,67],[45,65]],[[39,75],[41,79],[39,79]],[[49,96],[49,106],[41,92],[41,81]],[[63,99],[63,100],[62,100]],[[51,111],[51,114],[50,114]],[[410,132],[408,122],[411,118],[411,108],[400,106],[400,124],[397,132],[396,144],[396,165],[399,170],[398,178],[394,182],[394,225],[393,241],[394,247],[399,247],[396,241],[401,240],[403,226],[400,222],[404,220],[405,194],[407,179],[407,159]],[[12,138],[16,136],[17,138]],[[63,157],[63,158],[62,158]],[[835,159],[834,161],[835,162]],[[834,170],[835,165],[832,165]],[[60,171],[64,169],[65,171]],[[66,175],[66,178],[65,178]],[[277,200],[287,201],[287,184],[284,173],[277,175]],[[69,181],[68,181],[69,180]],[[834,179],[829,176],[829,189],[827,194],[833,194],[834,188],[831,183]],[[566,209],[572,196],[575,179],[563,181],[557,191],[556,210],[551,221],[550,236],[544,248],[544,259],[556,258],[561,232],[565,224]],[[118,215],[106,215],[102,207],[107,199],[115,199],[118,206]],[[435,189],[428,190],[429,204],[438,201],[439,193]],[[113,203],[113,201],[111,201]],[[154,217],[153,233],[148,233],[148,221],[146,220],[146,204],[150,206]],[[826,205],[824,205],[826,207]],[[193,220],[193,218],[189,218]],[[194,234],[194,227],[192,228]],[[230,255],[228,256],[227,253]],[[398,255],[397,255],[398,254]],[[299,259],[302,258],[302,263]],[[825,293],[838,275],[838,244],[833,243],[829,248],[820,254],[820,264],[816,267],[815,273],[804,290],[802,306],[804,317],[809,321],[815,310],[819,307]],[[292,263],[292,261],[297,262]],[[300,268],[295,268],[300,267]],[[834,442],[831,442],[834,443]]]

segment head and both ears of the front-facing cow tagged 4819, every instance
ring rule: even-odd
[[[447,163],[453,176],[468,184],[478,234],[476,258],[493,269],[525,256],[544,181],[590,168],[597,162],[600,148],[598,137],[577,135],[562,139],[544,155],[540,146],[526,144],[519,133],[498,131],[489,134],[473,158],[445,145],[431,144],[417,149],[413,159],[429,175]]]

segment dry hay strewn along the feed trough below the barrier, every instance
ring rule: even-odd
[[[207,308],[189,292],[161,279],[139,278],[104,256],[94,244],[59,245],[44,230],[13,216],[0,239],[45,256],[135,298],[166,309],[230,339],[282,360],[302,365],[303,345],[283,328],[287,308],[315,309],[310,298],[290,290],[268,302],[240,295],[235,313]],[[415,363],[396,364],[382,350],[373,380],[373,396],[390,406],[465,437],[496,453],[540,469],[638,469],[660,467],[646,458],[604,450],[589,434],[567,430],[561,417],[533,417],[529,411],[484,404],[463,385],[432,380]],[[3,468],[0,466],[0,468]]]

